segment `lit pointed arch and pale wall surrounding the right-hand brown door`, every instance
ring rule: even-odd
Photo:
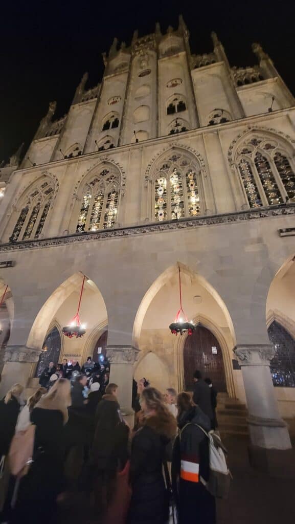
[[[230,314],[225,303],[209,282],[187,266],[179,263],[179,267],[184,310],[189,320],[209,330],[218,341],[222,352],[222,355],[218,357],[222,359],[224,366],[226,390],[228,395],[235,397],[232,371],[235,334]],[[169,386],[182,390],[185,375],[183,352],[188,335],[176,337],[169,330],[169,324],[173,321],[178,309],[178,264],[176,264],[169,267],[155,280],[141,301],[134,322],[133,344],[141,351],[138,363],[135,365],[136,377],[141,374],[149,379],[151,384],[161,383],[159,370],[162,369],[161,363],[163,363],[168,375]],[[158,359],[152,355],[156,355]],[[144,373],[145,365],[150,376],[147,376],[147,372]],[[198,363],[197,358],[194,365],[202,367],[202,363]],[[210,375],[210,370],[208,374]],[[162,373],[162,384],[164,385],[166,381],[166,373]]]

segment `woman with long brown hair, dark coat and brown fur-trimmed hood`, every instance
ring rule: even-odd
[[[167,444],[177,431],[161,393],[151,387],[140,395],[143,426],[134,434],[130,457],[130,501],[128,524],[165,524],[169,500],[162,474]]]

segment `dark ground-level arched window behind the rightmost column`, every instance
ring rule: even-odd
[[[274,386],[295,387],[295,341],[276,321],[268,328],[270,342],[276,354],[270,362],[270,373]]]

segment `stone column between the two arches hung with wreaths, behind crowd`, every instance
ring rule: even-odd
[[[133,419],[132,383],[133,367],[139,350],[128,345],[107,346],[106,356],[111,363],[110,382],[119,386],[118,400],[124,418],[130,423]]]

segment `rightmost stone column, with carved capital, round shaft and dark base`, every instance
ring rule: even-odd
[[[278,473],[290,457],[287,424],[280,418],[270,361],[275,356],[271,344],[243,344],[234,349],[242,374],[249,411],[249,457],[253,466]],[[285,466],[284,466],[285,467]],[[293,466],[292,466],[293,467]]]

